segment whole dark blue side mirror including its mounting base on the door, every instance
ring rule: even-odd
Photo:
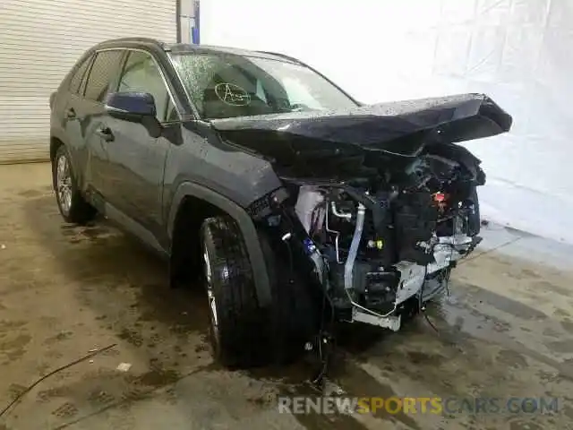
[[[106,111],[114,118],[141,123],[151,137],[161,135],[155,99],[148,92],[112,92],[106,99]]]

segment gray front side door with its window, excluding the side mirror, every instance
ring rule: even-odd
[[[167,82],[150,52],[128,50],[117,83],[117,92],[146,92],[153,96],[156,119],[165,130],[179,119]],[[162,190],[165,160],[171,143],[163,133],[150,136],[145,125],[110,117],[107,127],[114,136],[109,145],[108,180],[119,211],[158,238],[162,231]]]

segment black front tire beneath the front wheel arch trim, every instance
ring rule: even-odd
[[[213,355],[228,367],[267,364],[268,313],[259,306],[251,263],[235,220],[206,219],[201,242]]]

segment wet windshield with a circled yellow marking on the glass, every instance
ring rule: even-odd
[[[203,118],[356,107],[304,65],[231,54],[178,54],[173,62]]]

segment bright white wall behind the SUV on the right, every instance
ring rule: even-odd
[[[364,102],[487,93],[514,127],[467,144],[483,216],[573,243],[571,0],[207,0],[201,43],[297,56]]]

